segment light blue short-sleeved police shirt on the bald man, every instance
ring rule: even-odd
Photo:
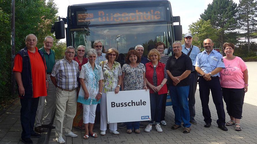
[[[212,50],[208,55],[206,50],[199,53],[193,63],[195,67],[200,67],[204,73],[210,73],[217,67],[225,69],[222,55],[216,50]],[[213,75],[213,77],[219,76],[219,73]]]

